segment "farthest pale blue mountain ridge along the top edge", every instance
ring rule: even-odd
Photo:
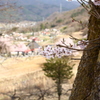
[[[68,2],[66,0],[18,0],[17,1],[18,5],[37,5],[39,6],[40,4],[47,4],[47,5],[55,5],[55,6],[60,6],[62,4],[63,8],[67,9],[74,9],[78,7],[80,4],[77,1],[72,1]]]

